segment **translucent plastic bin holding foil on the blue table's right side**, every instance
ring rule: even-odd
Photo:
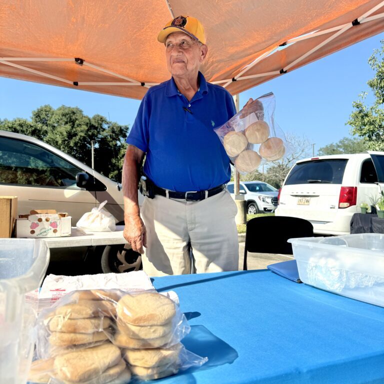
[[[300,280],[384,306],[384,235],[291,238]]]

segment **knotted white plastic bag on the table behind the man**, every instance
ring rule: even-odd
[[[90,212],[84,213],[76,223],[76,227],[82,230],[94,232],[113,232],[116,230],[116,219],[114,216],[102,209],[107,200],[103,201],[98,208],[94,207]]]

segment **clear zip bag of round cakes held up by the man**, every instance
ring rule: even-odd
[[[214,129],[233,165],[242,174],[286,153],[286,139],[274,120],[275,97],[267,93]]]

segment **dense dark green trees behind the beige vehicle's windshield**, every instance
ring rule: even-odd
[[[95,140],[95,169],[121,181],[128,125],[108,121],[99,114],[89,117],[78,107],[62,105],[54,109],[42,105],[32,111],[31,120],[0,120],[0,129],[36,137],[89,166],[91,141]]]

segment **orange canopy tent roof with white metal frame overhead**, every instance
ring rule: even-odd
[[[180,14],[232,94],[384,30],[379,0],[0,0],[0,75],[141,98],[169,78],[156,36]]]

